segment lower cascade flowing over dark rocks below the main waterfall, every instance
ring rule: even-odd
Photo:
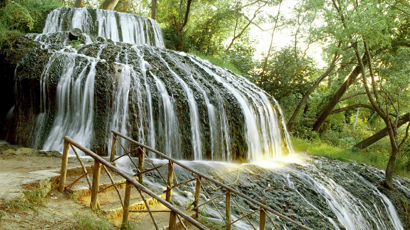
[[[153,160],[155,165],[166,160]],[[289,157],[255,162],[255,164],[236,165],[227,162],[182,161],[200,173],[211,176],[222,183],[273,208],[312,229],[330,230],[403,230],[399,211],[389,197],[384,194],[381,182],[384,171],[361,163],[347,163],[323,157],[307,156],[303,153]],[[134,167],[128,159],[118,162],[124,171],[134,174]],[[149,163],[146,163],[148,167]],[[178,182],[194,176],[179,166],[174,166]],[[160,169],[166,175],[166,167]],[[176,182],[174,182],[176,183]],[[202,180],[210,197],[224,193],[222,189]],[[410,198],[410,180],[396,176],[396,192],[403,198]],[[166,189],[156,171],[144,177],[144,185],[155,192]],[[194,200],[195,182],[173,189],[172,199],[179,207],[186,208]],[[203,203],[208,197],[201,190]],[[232,221],[238,219],[241,210],[250,213],[259,207],[232,195]],[[208,203],[202,210],[212,221],[223,223],[225,197],[218,198],[214,204]],[[270,215],[278,229],[298,229],[292,223],[278,216]],[[259,214],[253,214],[251,223],[258,228]],[[223,223],[224,224],[224,223]],[[223,225],[222,224],[222,225]],[[267,220],[267,229],[274,229]],[[243,219],[233,225],[238,230],[252,230],[252,225]]]

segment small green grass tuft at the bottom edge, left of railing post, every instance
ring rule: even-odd
[[[111,223],[107,217],[98,218],[94,214],[78,214],[74,229],[76,230],[109,230]]]

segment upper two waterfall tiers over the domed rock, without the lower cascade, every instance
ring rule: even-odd
[[[69,45],[73,28],[85,40],[77,48]],[[27,37],[48,51],[39,108],[32,106],[34,147],[61,151],[69,135],[107,154],[114,129],[174,158],[257,161],[292,153],[275,99],[244,77],[163,49],[149,18],[58,8],[43,34]]]

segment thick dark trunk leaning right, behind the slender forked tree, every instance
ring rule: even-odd
[[[332,99],[330,99],[329,103],[326,107],[320,112],[319,117],[317,117],[316,123],[314,123],[312,130],[319,133],[319,129],[328,118],[328,116],[332,113],[333,108],[337,105],[339,100],[343,97],[344,93],[347,91],[349,86],[356,81],[360,74],[360,66],[356,66],[354,70],[351,72],[349,77],[344,81],[342,86],[340,86],[339,90],[333,95]]]

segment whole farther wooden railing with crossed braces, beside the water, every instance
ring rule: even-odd
[[[225,185],[213,178],[211,178],[210,176],[207,176],[205,174],[202,174],[198,171],[196,171],[195,169],[191,169],[190,167],[187,167],[186,165],[182,164],[181,162],[174,160],[173,158],[170,158],[169,156],[166,156],[165,154],[146,146],[145,144],[139,143],[135,140],[132,140],[131,138],[122,135],[121,133],[118,133],[116,131],[111,131],[113,134],[113,138],[112,138],[112,149],[111,149],[111,155],[110,155],[110,161],[114,162],[115,160],[117,160],[118,158],[121,158],[123,156],[128,156],[131,159],[131,162],[133,162],[134,166],[137,168],[137,174],[135,174],[134,176],[138,176],[138,180],[140,183],[142,183],[143,181],[143,174],[148,172],[148,171],[153,171],[156,170],[159,175],[161,176],[162,180],[164,181],[167,189],[164,191],[164,193],[166,193],[166,201],[170,202],[171,201],[171,193],[172,193],[172,189],[175,187],[178,187],[180,185],[195,181],[196,186],[195,186],[195,197],[194,197],[194,202],[192,203],[193,210],[197,213],[198,216],[198,212],[199,212],[199,207],[207,204],[207,203],[212,203],[212,205],[214,205],[214,207],[216,208],[216,210],[219,212],[219,214],[221,215],[221,218],[225,221],[225,225],[223,226],[224,228],[226,228],[227,230],[231,230],[231,226],[233,223],[236,223],[237,221],[241,220],[241,219],[246,219],[248,221],[248,223],[255,229],[257,230],[257,228],[255,227],[255,225],[250,221],[248,216],[251,216],[252,214],[255,214],[257,212],[259,212],[259,230],[264,230],[265,226],[266,226],[266,218],[269,219],[269,221],[272,223],[273,227],[277,230],[278,228],[276,227],[273,219],[269,216],[269,214],[274,214],[276,216],[279,216],[280,218],[284,219],[285,221],[289,221],[295,225],[297,225],[298,227],[300,227],[301,229],[304,230],[311,230],[310,228],[302,225],[301,223],[294,221],[293,219],[290,219],[289,217],[273,210],[271,207],[268,207],[258,201],[255,201],[254,199],[242,194],[241,192],[237,191],[236,189],[233,189],[232,187],[229,187],[228,185]],[[124,148],[124,145],[119,142],[118,137],[123,138],[124,140],[127,140],[128,142],[131,142],[132,144],[134,144],[135,146],[137,146],[137,148],[132,149],[131,151],[127,151]],[[64,138],[65,139],[65,138]],[[125,152],[125,154],[115,158],[116,155],[116,144],[120,144],[121,148],[123,149],[123,151]],[[151,151],[153,153],[156,154],[157,157],[160,158],[164,158],[166,160],[168,160],[168,163],[163,164],[163,165],[159,165],[156,166],[154,165],[154,163],[150,160],[150,158],[147,156],[147,154],[145,153],[145,151]],[[137,151],[137,155],[138,155],[138,165],[136,163],[134,163],[134,161],[132,160],[130,153],[133,151]],[[144,165],[145,165],[145,159],[149,160],[150,164],[153,165],[153,168],[151,169],[144,169]],[[167,176],[167,180],[165,180],[164,176],[162,176],[162,174],[160,173],[160,171],[158,170],[160,167],[164,167],[168,165],[168,176]],[[182,167],[183,169],[186,169],[188,171],[190,171],[192,174],[196,175],[194,176],[194,178],[191,178],[189,180],[186,180],[182,183],[178,183],[178,181],[176,180],[176,176],[175,176],[175,172],[174,172],[174,165],[178,165],[180,167]],[[173,178],[175,177],[175,185],[173,182]],[[207,194],[205,188],[203,187],[203,183],[201,183],[201,181],[203,180],[207,180],[210,183],[215,184],[216,186],[218,186],[218,188],[221,189],[225,189],[223,194],[220,194],[219,196],[215,196],[213,198],[211,198],[209,196],[209,194]],[[142,186],[142,185],[141,185]],[[200,194],[201,194],[201,189],[204,192],[205,196],[207,197],[207,201],[205,201],[204,203],[200,203]],[[254,210],[251,213],[248,214],[244,214],[243,210],[241,209],[241,207],[238,205],[237,201],[235,200],[235,198],[232,196],[232,194],[235,194],[235,196],[238,196],[240,198],[245,199],[248,202],[253,203],[254,205],[256,205],[257,207],[259,207],[258,210]],[[225,196],[225,213],[222,214],[218,208],[216,207],[214,200],[217,198],[220,198],[222,196]],[[237,207],[239,208],[240,212],[243,214],[243,216],[239,217],[238,219],[232,221],[231,219],[231,201],[234,201],[234,203],[237,205]],[[171,217],[170,217],[171,219]],[[195,225],[196,226],[196,225]],[[202,228],[199,228],[202,229]]]

